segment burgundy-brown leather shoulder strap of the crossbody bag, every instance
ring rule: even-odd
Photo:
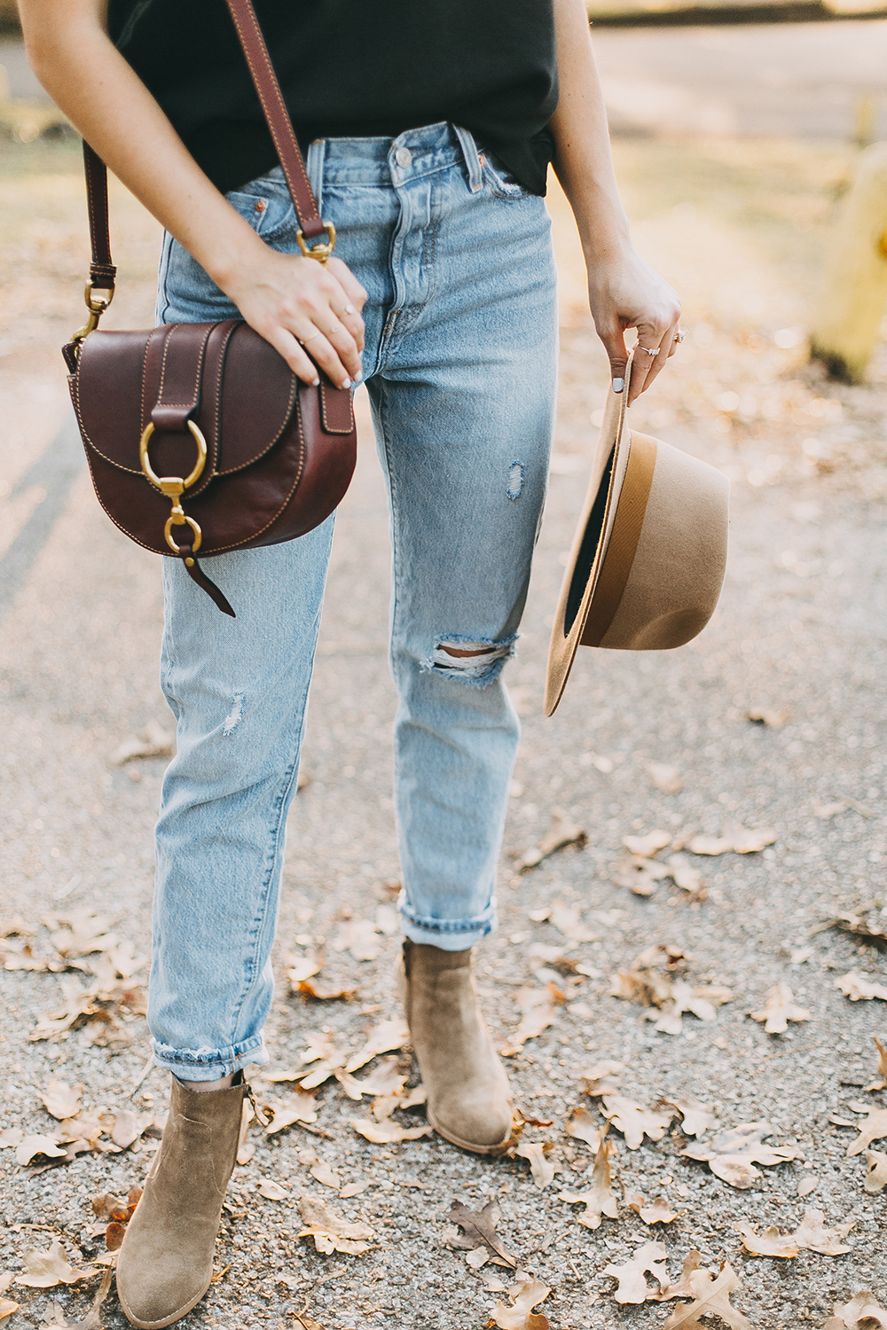
[[[290,189],[293,206],[302,234],[306,239],[322,235],[326,227],[318,213],[317,200],[305,169],[299,141],[293,130],[290,113],[283,101],[281,85],[277,81],[271,59],[265,45],[253,0],[226,0],[237,36],[239,37],[246,63],[255,84],[262,113],[274,140],[274,148],[283,168],[283,176]],[[101,157],[84,141],[84,168],[86,173],[86,201],[89,205],[89,239],[92,243],[92,265],[89,278],[101,290],[114,289],[117,269],[110,258],[110,237],[108,230],[108,169]]]

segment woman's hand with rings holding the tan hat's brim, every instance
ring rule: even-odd
[[[606,348],[613,379],[625,378],[625,329],[637,329],[629,406],[649,388],[678,347],[681,302],[658,273],[628,243],[617,257],[588,267],[588,302]],[[654,355],[644,354],[644,350]]]

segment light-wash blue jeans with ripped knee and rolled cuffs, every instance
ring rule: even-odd
[[[391,665],[402,915],[414,942],[461,950],[495,924],[519,722],[513,653],[545,496],[556,383],[549,219],[447,124],[317,141],[309,173],[336,254],[368,291],[364,378],[394,543]],[[297,253],[278,169],[229,194]],[[257,207],[265,201],[265,207]],[[169,235],[160,322],[235,317]],[[161,684],[178,749],[157,823],[148,1021],[184,1080],[266,1063],[287,810],[332,541],[330,517],[281,545],[221,555],[221,614],[164,560]],[[453,657],[443,644],[488,646]]]

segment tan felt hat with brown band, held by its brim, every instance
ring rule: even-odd
[[[628,390],[606,394],[585,508],[548,652],[545,714],[561,700],[577,646],[682,646],[707,624],[727,559],[725,475],[628,426]]]

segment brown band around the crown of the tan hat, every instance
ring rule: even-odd
[[[638,434],[632,430],[628,466],[613,520],[613,533],[604,553],[604,565],[582,628],[580,638],[582,646],[600,646],[616,618],[641,539],[656,469],[656,439],[649,434]]]

